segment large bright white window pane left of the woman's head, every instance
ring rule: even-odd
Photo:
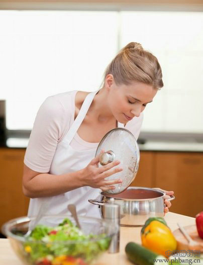
[[[0,25],[0,99],[10,130],[32,129],[48,96],[97,90],[118,50],[116,12],[0,11]]]

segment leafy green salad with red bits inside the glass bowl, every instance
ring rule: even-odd
[[[107,234],[85,235],[69,219],[56,227],[37,225],[24,243],[24,253],[36,265],[86,265],[110,244]]]

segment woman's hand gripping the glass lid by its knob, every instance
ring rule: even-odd
[[[111,176],[117,172],[123,170],[121,167],[115,167],[120,164],[119,160],[115,160],[107,165],[98,167],[99,162],[98,154],[91,162],[83,169],[81,169],[81,182],[83,186],[90,186],[92,188],[99,188],[102,191],[114,190],[116,187],[114,184],[122,183],[122,180],[105,180],[108,176]]]

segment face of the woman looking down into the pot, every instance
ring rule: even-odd
[[[112,75],[108,76],[106,77],[106,87],[109,92],[108,105],[112,114],[120,123],[126,124],[135,116],[139,117],[157,93],[152,85],[138,81],[132,81],[128,85],[117,85],[114,79],[111,81]]]

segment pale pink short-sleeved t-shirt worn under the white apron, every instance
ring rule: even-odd
[[[73,124],[76,93],[77,91],[71,91],[48,97],[41,105],[24,159],[24,163],[32,170],[49,172],[57,144],[62,141]],[[142,121],[143,113],[139,117],[134,117],[125,126],[136,139],[140,134]],[[80,151],[96,148],[98,143],[86,142],[76,133],[70,145]]]

